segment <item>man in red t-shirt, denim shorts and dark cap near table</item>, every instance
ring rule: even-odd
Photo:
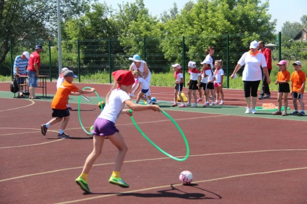
[[[30,96],[29,99],[40,99],[40,97],[35,96],[35,87],[37,87],[37,79],[39,75],[39,68],[41,65],[41,57],[39,53],[43,51],[42,45],[36,45],[35,52],[30,54],[29,65],[27,68],[28,74],[28,86]]]

